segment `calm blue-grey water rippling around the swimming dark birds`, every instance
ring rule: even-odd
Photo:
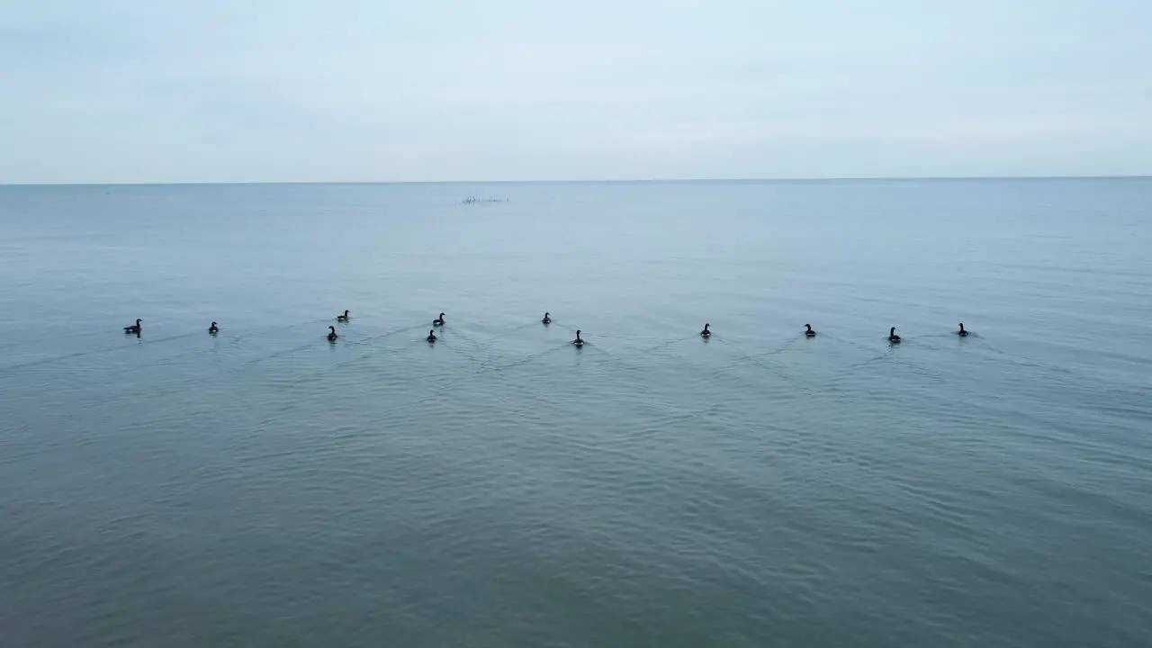
[[[1142,179],[3,187],[0,645],[1147,646],[1150,297]]]

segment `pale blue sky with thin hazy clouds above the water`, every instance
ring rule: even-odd
[[[0,0],[0,182],[1152,173],[1149,0]]]

